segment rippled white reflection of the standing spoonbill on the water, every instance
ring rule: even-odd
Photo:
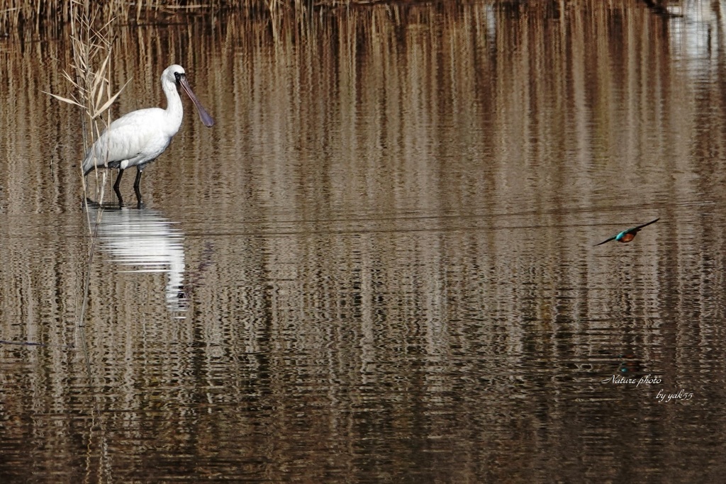
[[[91,210],[94,223],[98,210]],[[111,260],[129,266],[121,272],[166,272],[166,305],[185,311],[184,233],[157,210],[103,210],[98,226],[99,250]],[[183,316],[179,316],[183,317]]]

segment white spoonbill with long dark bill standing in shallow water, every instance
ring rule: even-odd
[[[118,184],[126,168],[136,166],[134,192],[139,207],[142,206],[139,182],[141,173],[147,163],[151,163],[161,155],[171,142],[184,115],[181,97],[177,87],[187,93],[189,99],[197,107],[199,118],[204,126],[213,126],[214,120],[204,109],[199,99],[189,87],[187,75],[181,65],[170,65],[161,73],[161,87],[166,94],[166,110],[160,107],[149,107],[136,110],[121,116],[103,131],[86,153],[83,160],[83,176],[97,168],[118,168],[118,176],[113,184],[119,205],[123,205]]]

